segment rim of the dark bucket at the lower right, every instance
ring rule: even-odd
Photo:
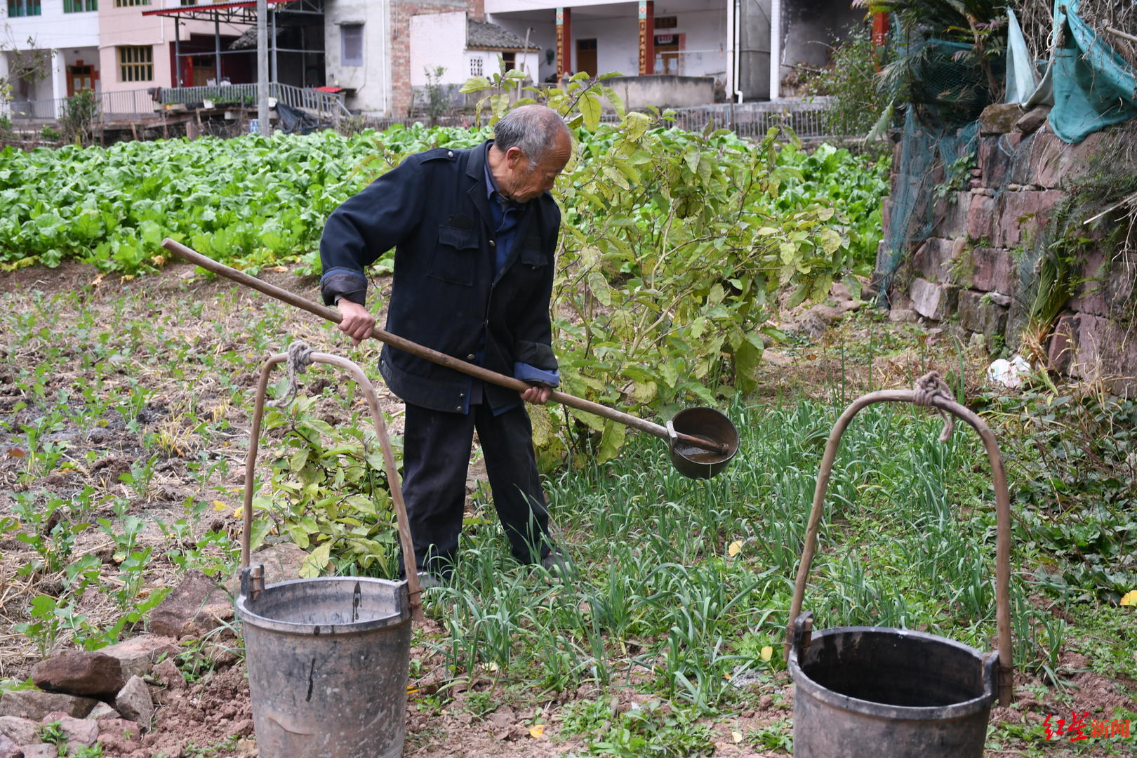
[[[912,630],[896,628],[891,626],[835,626],[813,632],[810,644],[815,644],[816,641],[823,636],[836,636],[837,634],[849,633],[902,635],[924,642],[946,644],[948,647],[956,648],[962,652],[968,652],[974,656],[984,668],[984,691],[974,698],[954,702],[949,706],[894,706],[883,702],[874,702],[872,700],[852,698],[847,694],[835,692],[811,678],[810,675],[802,668],[800,664],[798,664],[798,650],[795,644],[790,648],[789,660],[787,663],[790,678],[794,680],[794,684],[797,686],[798,691],[805,690],[808,692],[810,697],[833,708],[849,710],[863,716],[872,716],[890,720],[949,720],[965,718],[990,708],[995,700],[995,677],[997,675],[996,664],[998,663],[997,652],[985,657],[984,653],[976,648],[963,644],[962,642],[956,642],[955,640],[949,640],[937,634],[928,634],[927,632],[915,632]]]

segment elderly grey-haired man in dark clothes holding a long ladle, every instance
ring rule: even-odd
[[[383,347],[380,372],[406,402],[404,495],[424,586],[453,570],[475,428],[513,557],[563,568],[522,400],[543,403],[558,382],[549,299],[561,211],[548,190],[571,152],[556,111],[524,106],[480,147],[407,158],[324,226],[324,302],[356,344],[375,323],[364,268],[393,247],[387,328],[532,385],[518,397]]]

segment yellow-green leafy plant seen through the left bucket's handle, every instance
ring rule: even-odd
[[[252,547],[275,532],[310,551],[301,576],[318,576],[334,563],[337,573],[392,577],[395,509],[374,428],[358,415],[332,426],[309,413],[315,402],[298,398],[265,414],[265,432],[283,434],[274,443],[268,494],[254,500],[263,518]]]

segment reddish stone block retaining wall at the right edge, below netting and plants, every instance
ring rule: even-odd
[[[905,251],[906,263],[893,281],[894,308],[912,308],[927,319],[956,322],[968,332],[1019,345],[1030,297],[1020,291],[1023,267],[1037,265],[1038,253],[1052,242],[1047,224],[1071,181],[1088,170],[1093,156],[1098,161],[1101,153],[1132,160],[1132,151],[1119,149],[1117,133],[1099,132],[1068,144],[1049,131],[1045,116],[1046,109],[1023,114],[1015,105],[984,113],[969,186],[946,192],[941,188],[941,197],[918,202],[930,216],[931,236]],[[898,157],[899,145],[894,166]],[[1137,165],[1131,170],[1137,172]],[[943,168],[938,172],[935,181],[943,185],[948,180]],[[894,172],[894,194],[904,181]],[[891,200],[885,201],[886,228],[891,206]],[[1101,240],[1109,225],[1119,223],[1128,223],[1124,210],[1086,226],[1085,236]],[[1079,253],[1080,283],[1045,348],[1052,367],[1072,376],[1134,377],[1137,258],[1105,248],[1090,242]],[[1137,388],[1135,381],[1120,384]]]

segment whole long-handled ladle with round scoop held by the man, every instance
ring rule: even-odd
[[[327,308],[326,306],[312,302],[310,300],[301,298],[298,294],[289,292],[288,290],[283,290],[259,280],[256,276],[250,276],[244,272],[239,272],[235,268],[219,264],[213,258],[202,256],[200,252],[197,252],[180,242],[175,242],[169,238],[163,241],[161,247],[166,248],[180,258],[205,268],[206,270],[224,276],[225,278],[232,280],[238,284],[252,288],[258,292],[276,298],[277,300],[296,306],[302,310],[307,310],[309,314],[314,314],[337,324],[339,324],[342,319],[340,313],[333,308]],[[399,350],[404,350],[431,363],[447,368],[453,368],[454,370],[462,372],[463,374],[468,374],[470,376],[480,378],[484,382],[490,382],[491,384],[497,384],[518,392],[524,392],[532,386],[518,378],[506,376],[505,374],[498,374],[497,372],[492,372],[488,368],[482,368],[481,366],[448,356],[445,352],[439,352],[438,350],[423,347],[397,334],[391,334],[390,332],[377,326],[372,328],[371,336],[380,342],[391,345],[392,348],[398,348]],[[596,416],[609,418],[620,424],[638,428],[641,432],[647,432],[648,434],[653,434],[662,440],[666,440],[671,449],[672,465],[675,466],[680,474],[690,478],[709,478],[711,476],[714,476],[725,468],[727,464],[730,463],[730,459],[733,458],[735,453],[738,451],[738,430],[735,428],[735,425],[729,418],[711,408],[688,408],[687,410],[682,410],[667,423],[666,427],[664,427],[659,424],[632,416],[631,414],[625,414],[623,411],[615,410],[614,408],[608,408],[607,406],[601,406],[598,402],[584,400],[583,398],[578,398],[565,392],[554,391],[549,395],[549,399],[568,406],[570,408],[576,408],[578,410],[583,410]]]

